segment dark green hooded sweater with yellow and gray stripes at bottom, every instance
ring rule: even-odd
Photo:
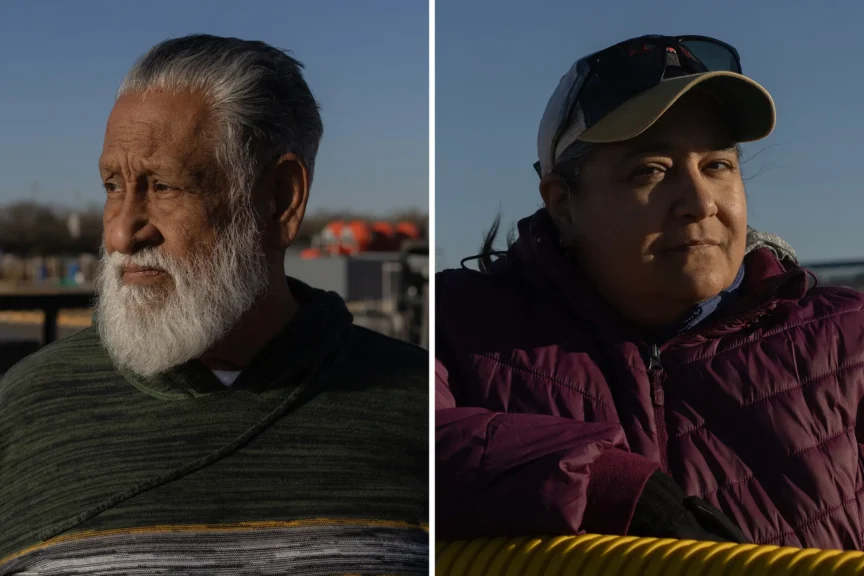
[[[426,574],[428,355],[301,309],[228,388],[95,329],[0,381],[0,575]]]

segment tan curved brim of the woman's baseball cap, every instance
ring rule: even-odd
[[[578,139],[608,144],[635,138],[697,86],[711,94],[726,111],[736,141],[761,140],[774,130],[777,113],[765,88],[734,72],[706,72],[662,80],[607,114]]]

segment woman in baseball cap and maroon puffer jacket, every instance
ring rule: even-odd
[[[437,278],[438,538],[864,548],[864,295],[748,227],[738,145],[774,123],[712,38],[561,79],[545,206]]]

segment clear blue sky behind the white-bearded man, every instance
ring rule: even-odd
[[[428,207],[424,0],[2,0],[0,204],[103,201],[97,160],[123,75],[169,37],[291,50],[322,107],[310,211]]]

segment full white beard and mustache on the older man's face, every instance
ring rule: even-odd
[[[167,285],[126,285],[126,265],[165,270]],[[173,285],[172,285],[173,284]],[[198,358],[218,342],[267,288],[267,262],[248,207],[236,211],[210,254],[178,261],[159,248],[133,255],[102,250],[96,320],[114,362],[152,376]]]

